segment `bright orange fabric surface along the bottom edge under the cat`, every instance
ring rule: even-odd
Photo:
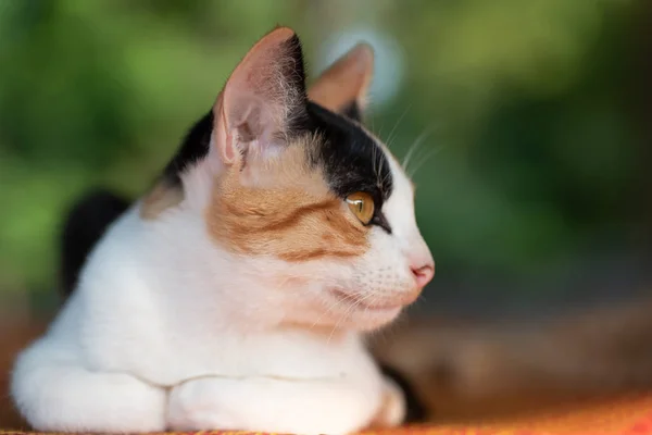
[[[185,433],[186,435],[188,433]],[[201,432],[201,435],[243,435],[243,432]],[[538,415],[493,422],[428,424],[367,431],[364,435],[652,435],[652,396],[570,407]],[[0,435],[41,435],[0,431]]]

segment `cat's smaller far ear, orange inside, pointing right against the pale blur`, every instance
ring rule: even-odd
[[[359,44],[322,73],[309,89],[308,98],[360,121],[373,73],[374,51],[368,45]]]

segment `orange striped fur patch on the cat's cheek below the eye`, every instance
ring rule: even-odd
[[[211,236],[234,252],[293,262],[364,253],[368,229],[310,167],[305,149],[291,145],[267,163],[269,188],[242,186],[238,167],[221,176],[205,216]]]

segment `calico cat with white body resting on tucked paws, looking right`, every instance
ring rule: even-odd
[[[373,64],[359,45],[308,89],[301,42],[277,27],[153,187],[130,204],[95,197],[102,235],[71,224],[90,252],[64,256],[70,296],[11,375],[30,426],[348,434],[403,421],[365,336],[435,263],[412,183],[362,125]]]

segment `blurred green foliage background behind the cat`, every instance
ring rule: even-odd
[[[401,158],[417,144],[426,301],[634,288],[652,233],[645,3],[0,0],[0,299],[52,307],[71,202],[149,186],[276,24],[313,77],[376,48],[368,124]]]

